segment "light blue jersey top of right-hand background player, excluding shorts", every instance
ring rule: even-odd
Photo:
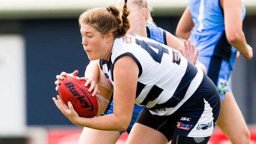
[[[237,50],[226,39],[220,0],[189,0],[189,9],[195,25],[189,39],[199,49],[199,55],[222,57],[233,68]]]

